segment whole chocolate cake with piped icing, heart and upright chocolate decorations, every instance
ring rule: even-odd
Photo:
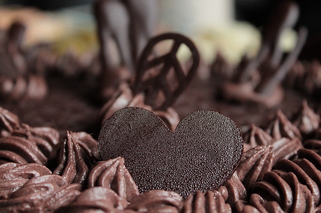
[[[97,0],[85,56],[23,47],[23,22],[1,31],[0,212],[321,211],[321,66],[299,59],[304,26],[278,46],[297,4],[238,64],[155,33],[156,9]]]

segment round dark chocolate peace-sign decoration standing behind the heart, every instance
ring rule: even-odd
[[[153,56],[156,44],[173,40],[168,53]],[[186,68],[177,57],[178,49],[185,44],[192,53],[192,65]],[[200,55],[194,43],[178,33],[164,33],[149,40],[138,64],[134,93],[144,92],[145,103],[153,109],[166,109],[186,88],[200,63]],[[160,68],[159,68],[160,67]]]

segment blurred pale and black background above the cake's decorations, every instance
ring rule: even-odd
[[[238,61],[244,52],[255,54],[260,42],[259,30],[278,1],[158,0],[159,31],[174,30],[190,36],[201,48],[205,60],[213,59],[216,50],[220,50],[231,61]],[[296,26],[305,25],[309,38],[318,38],[321,35],[321,1],[295,1],[300,6]],[[27,44],[44,40],[59,41],[62,48],[76,51],[97,48],[93,2],[0,0],[0,27],[6,28],[20,18],[28,20]],[[290,49],[295,43],[295,30],[284,34],[283,48]],[[89,45],[85,45],[84,40]]]

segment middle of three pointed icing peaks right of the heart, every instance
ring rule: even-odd
[[[300,130],[288,120],[281,110],[276,111],[275,118],[270,122],[266,131],[275,139],[282,137],[302,138]]]

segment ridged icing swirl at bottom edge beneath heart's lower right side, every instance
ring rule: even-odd
[[[183,212],[231,212],[231,206],[225,203],[218,191],[197,191],[184,200]]]

